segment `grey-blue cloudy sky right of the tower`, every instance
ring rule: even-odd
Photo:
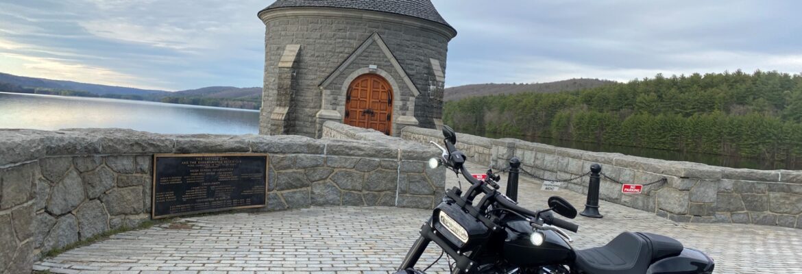
[[[447,84],[799,73],[798,2],[435,2],[459,34]]]

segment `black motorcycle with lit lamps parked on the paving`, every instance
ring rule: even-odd
[[[497,191],[499,175],[488,171],[484,180],[471,176],[464,166],[464,153],[454,146],[456,134],[451,127],[444,126],[443,135],[445,148],[430,142],[443,155],[431,159],[429,166],[444,165],[456,175],[462,174],[470,187],[464,192],[458,187],[446,191],[396,274],[426,271],[416,269],[415,264],[432,241],[447,253],[447,259],[454,260],[453,264],[449,260],[454,274],[713,272],[713,260],[703,252],[646,232],[623,232],[605,246],[573,249],[569,244],[573,240],[560,228],[577,232],[579,226],[552,214],[576,217],[577,210],[568,201],[553,196],[549,208],[537,212],[521,208]],[[479,202],[474,203],[478,197]]]

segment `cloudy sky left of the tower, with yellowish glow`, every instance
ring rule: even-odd
[[[257,87],[264,25],[256,12],[264,6],[256,0],[0,2],[0,15],[8,15],[0,16],[0,71],[166,90]]]

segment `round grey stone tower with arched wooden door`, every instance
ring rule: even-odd
[[[265,23],[259,133],[320,137],[336,121],[399,135],[442,124],[448,42],[429,0],[277,0]]]

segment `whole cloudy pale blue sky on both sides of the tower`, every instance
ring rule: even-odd
[[[273,0],[0,0],[0,72],[185,90],[259,87]],[[447,86],[802,72],[799,1],[434,0]]]

